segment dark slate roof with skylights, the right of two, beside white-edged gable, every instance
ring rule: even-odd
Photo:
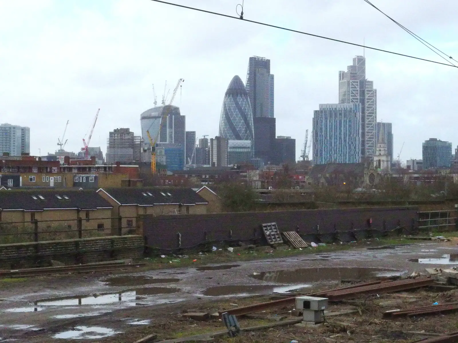
[[[164,204],[208,204],[208,201],[192,188],[148,187],[148,188],[100,188],[121,205],[153,206]]]

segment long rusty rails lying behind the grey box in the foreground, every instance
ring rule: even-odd
[[[414,289],[423,286],[428,286],[434,283],[434,280],[431,277],[419,278],[419,279],[407,279],[407,280],[398,280],[398,281],[389,281],[388,279],[378,280],[367,282],[364,284],[355,284],[352,286],[341,287],[337,289],[331,289],[323,292],[316,292],[306,294],[308,296],[320,296],[324,298],[329,298],[330,301],[340,301],[349,298],[355,298],[359,295],[371,295],[371,294],[382,294],[389,292],[397,292],[406,289]],[[260,312],[271,308],[276,308],[285,305],[294,304],[295,297],[269,301],[261,304],[238,307],[230,309],[227,311],[229,314],[240,316],[253,312]]]

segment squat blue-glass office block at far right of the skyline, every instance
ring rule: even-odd
[[[437,138],[425,140],[422,144],[423,169],[448,168],[452,160],[452,143]]]

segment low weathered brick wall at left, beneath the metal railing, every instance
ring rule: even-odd
[[[142,236],[107,236],[0,245],[0,268],[34,267],[50,260],[67,265],[142,257]]]

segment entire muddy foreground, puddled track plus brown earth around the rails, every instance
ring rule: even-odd
[[[169,268],[180,257],[167,257],[162,269],[68,274],[0,282],[0,342],[135,342],[151,333],[158,338],[185,337],[224,329],[218,319],[195,322],[186,311],[216,312],[268,301],[273,293],[309,293],[381,276],[408,275],[426,267],[458,265],[456,242],[358,247],[340,252],[237,262],[237,252],[200,255],[195,268]],[[235,255],[234,255],[235,254]],[[232,262],[211,264],[230,255]],[[235,256],[235,257],[233,257]],[[191,257],[188,257],[191,258]],[[181,257],[183,259],[183,257]],[[207,265],[203,265],[208,263]],[[178,262],[172,262],[175,266]],[[192,261],[189,263],[192,266]],[[128,273],[128,274],[127,274]],[[393,300],[393,301],[387,301]],[[409,342],[408,331],[457,331],[458,314],[400,321],[382,319],[382,311],[433,302],[458,301],[453,291],[431,289],[371,296],[331,304],[328,312],[356,312],[327,318],[320,327],[274,327],[244,332],[232,342]],[[285,307],[240,317],[241,327],[290,318]],[[339,323],[336,323],[339,322]],[[341,324],[344,323],[344,324]],[[225,342],[228,338],[217,338]]]

